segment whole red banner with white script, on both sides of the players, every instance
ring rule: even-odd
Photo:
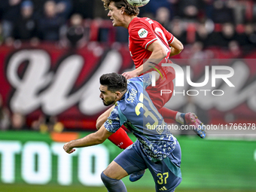
[[[244,59],[222,50],[190,59],[183,59],[186,52],[178,55],[172,62],[181,66],[183,76],[176,74],[176,94],[166,107],[194,111],[205,123],[256,123],[256,59],[249,59],[255,54]],[[11,112],[26,115],[29,126],[47,114],[66,128],[85,130],[95,129],[96,118],[106,110],[99,99],[99,77],[133,69],[126,44],[97,42],[77,50],[56,44],[1,46],[0,63],[0,93]]]

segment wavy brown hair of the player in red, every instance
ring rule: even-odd
[[[130,16],[137,16],[139,14],[139,8],[130,5],[127,0],[102,0],[104,8],[107,10],[111,2],[114,2],[114,6],[117,9],[124,8],[124,12]]]

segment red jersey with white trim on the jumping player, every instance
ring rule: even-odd
[[[169,44],[174,38],[172,33],[168,32],[157,21],[147,17],[136,17],[129,24],[128,32],[130,54],[136,68],[142,66],[143,59],[148,59],[151,56],[152,52],[147,50],[148,45],[157,40],[166,50],[166,59],[169,58],[169,53],[171,53]]]

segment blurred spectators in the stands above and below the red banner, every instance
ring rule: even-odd
[[[227,50],[242,58],[256,50],[256,0],[151,0],[139,17],[160,22],[185,46],[184,57],[212,59],[206,50]],[[1,0],[0,46],[19,48],[54,42],[84,47],[87,42],[128,43],[114,28],[100,0]],[[23,114],[11,114],[0,96],[0,130],[26,129]],[[61,132],[56,117],[39,117],[33,130]]]

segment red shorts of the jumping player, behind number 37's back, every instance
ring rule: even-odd
[[[150,96],[157,110],[159,110],[160,108],[163,108],[163,105],[165,105],[166,102],[168,102],[169,99],[171,99],[173,87],[174,87],[172,81],[175,78],[175,71],[172,67],[163,67],[163,69],[160,70],[160,72],[163,78],[160,76],[160,78],[156,82],[155,87],[148,86],[146,88],[146,91],[148,92],[148,95]],[[168,91],[163,93],[161,96],[161,90],[168,90]]]

